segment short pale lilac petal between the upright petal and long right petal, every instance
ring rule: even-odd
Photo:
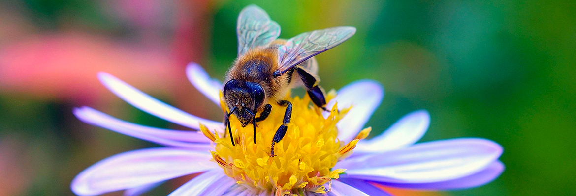
[[[354,152],[385,152],[408,147],[420,140],[430,125],[430,114],[418,110],[403,116],[384,133],[369,140],[358,142]]]

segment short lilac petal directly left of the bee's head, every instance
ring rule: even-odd
[[[192,83],[198,91],[216,105],[220,105],[219,91],[222,88],[220,81],[211,79],[208,73],[202,69],[202,66],[196,62],[190,62],[188,66],[186,66],[186,76],[188,76],[188,80],[190,80],[190,83]]]

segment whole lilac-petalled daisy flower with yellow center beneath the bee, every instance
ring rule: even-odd
[[[222,84],[195,63],[188,79],[223,110]],[[202,119],[154,99],[123,81],[99,73],[115,95],[151,115],[196,131],[147,127],[109,116],[90,107],[74,109],[78,119],[164,147],[113,155],[74,178],[77,195],[124,190],[138,195],[169,179],[202,173],[173,191],[179,195],[389,195],[376,185],[407,189],[450,190],[491,182],[503,171],[502,147],[487,139],[457,138],[416,143],[425,134],[430,115],[424,110],[402,117],[388,130],[366,139],[366,121],[384,96],[380,84],[362,80],[331,91],[323,112],[308,96],[286,97],[293,117],[285,138],[270,156],[274,132],[283,110],[273,110],[252,127],[230,117],[236,146],[221,121]],[[279,106],[278,106],[279,107]]]

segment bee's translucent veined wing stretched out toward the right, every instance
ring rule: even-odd
[[[278,48],[278,70],[281,74],[308,58],[316,56],[354,36],[356,28],[343,26],[299,34]]]

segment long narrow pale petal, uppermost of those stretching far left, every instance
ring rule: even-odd
[[[146,93],[139,91],[108,73],[98,73],[98,79],[100,79],[101,83],[112,91],[112,93],[120,97],[120,99],[151,115],[196,130],[200,128],[198,123],[206,125],[210,130],[223,130],[221,122],[202,119],[201,117],[181,111],[178,108],[154,99],[154,97],[146,95]]]

